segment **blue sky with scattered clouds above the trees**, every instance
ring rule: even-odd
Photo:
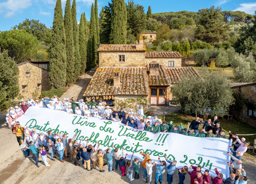
[[[98,11],[108,5],[109,1],[98,0]],[[66,0],[61,2],[64,10]],[[90,19],[90,7],[93,2],[94,0],[76,0],[78,21],[82,12],[85,12],[87,20]],[[183,10],[196,12],[212,5],[221,7],[222,10],[245,11],[249,14],[254,14],[256,10],[255,0],[134,0],[134,2],[143,5],[145,12],[148,6],[151,6],[152,13]],[[39,20],[50,27],[53,22],[55,3],[56,0],[0,0],[0,31],[10,30],[26,18]]]

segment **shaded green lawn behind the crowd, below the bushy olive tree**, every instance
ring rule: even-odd
[[[183,127],[187,128],[188,122],[191,122],[194,120],[195,117],[184,115],[180,112],[167,114],[165,115],[165,121],[170,122],[173,121],[173,125],[180,125],[180,123],[183,123]],[[200,119],[202,120],[202,118]],[[229,130],[231,132],[235,132],[236,134],[255,134],[256,128],[249,126],[245,123],[235,122],[228,119],[219,119],[220,126],[222,127],[222,130],[225,131],[225,134],[228,135]],[[199,128],[203,128],[203,125],[200,125]],[[246,141],[250,142],[250,146],[253,146],[254,139],[256,139],[256,135],[253,136],[239,136],[240,138],[244,137]]]

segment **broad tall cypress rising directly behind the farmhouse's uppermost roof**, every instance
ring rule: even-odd
[[[110,43],[126,43],[127,14],[124,0],[113,0]]]

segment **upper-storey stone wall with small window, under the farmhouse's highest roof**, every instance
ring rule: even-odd
[[[119,63],[120,54],[125,55],[125,62]],[[145,51],[100,51],[98,53],[99,67],[103,66],[133,66],[133,67],[145,67]]]

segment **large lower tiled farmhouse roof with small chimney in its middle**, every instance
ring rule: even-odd
[[[113,86],[113,72],[118,69],[120,86]],[[98,67],[84,96],[148,95],[146,67]]]

